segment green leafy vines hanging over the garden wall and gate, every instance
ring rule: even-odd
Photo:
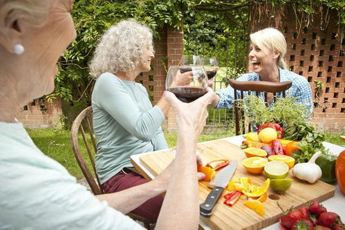
[[[51,100],[60,96],[66,101],[90,104],[93,79],[88,74],[88,63],[95,46],[107,28],[128,18],[145,23],[155,37],[165,26],[180,28],[183,23],[185,52],[217,57],[221,66],[235,70],[235,73],[228,73],[234,77],[245,67],[248,21],[252,17],[250,4],[290,4],[307,15],[327,6],[337,10],[340,22],[345,24],[345,3],[342,0],[75,0],[72,16],[77,39],[59,60],[55,92],[47,98]],[[324,17],[327,21],[327,16]]]

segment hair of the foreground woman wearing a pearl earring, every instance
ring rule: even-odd
[[[0,23],[12,24],[21,18],[30,26],[44,26],[53,2],[53,0],[0,0]]]

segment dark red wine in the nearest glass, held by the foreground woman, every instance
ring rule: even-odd
[[[168,91],[171,93],[174,93],[176,97],[181,102],[193,102],[199,97],[205,95],[207,93],[206,88],[200,88],[200,87],[191,87],[191,86],[185,86],[185,87],[172,87],[168,88]]]

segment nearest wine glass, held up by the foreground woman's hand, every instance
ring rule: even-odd
[[[193,102],[207,93],[207,74],[203,66],[171,66],[165,88],[181,102]]]

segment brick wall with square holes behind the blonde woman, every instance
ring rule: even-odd
[[[324,11],[323,17],[319,13],[308,26],[305,26],[306,21],[301,21],[299,27],[290,7],[279,10],[265,10],[265,7],[252,6],[252,12],[260,9],[262,14],[260,18],[253,17],[250,31],[271,26],[283,32],[288,43],[285,58],[290,70],[306,77],[312,88],[311,123],[330,133],[345,132],[345,39],[344,34],[338,32],[337,12],[328,12],[327,26],[321,20],[326,15]],[[321,29],[322,26],[326,30]],[[320,90],[316,89],[317,84],[322,85]]]

